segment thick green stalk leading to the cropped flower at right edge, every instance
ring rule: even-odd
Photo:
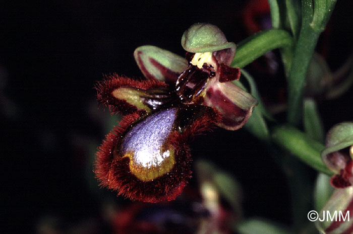
[[[272,140],[315,170],[333,174],[321,160],[321,151],[325,146],[297,128],[276,126],[272,129]]]

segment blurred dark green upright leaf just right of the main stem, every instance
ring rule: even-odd
[[[304,100],[304,129],[311,138],[324,142],[324,127],[313,99]]]

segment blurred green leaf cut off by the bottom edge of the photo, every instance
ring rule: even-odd
[[[234,229],[240,234],[291,234],[286,227],[268,220],[252,218],[241,222]]]

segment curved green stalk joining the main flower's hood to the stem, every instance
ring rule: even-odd
[[[293,38],[284,30],[262,31],[238,44],[237,53],[231,66],[244,67],[266,52],[276,48],[282,48],[286,54],[289,54],[293,45]]]

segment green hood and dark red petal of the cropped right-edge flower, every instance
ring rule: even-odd
[[[321,157],[335,173],[330,181],[334,188],[353,185],[353,122],[339,123],[329,130]]]

